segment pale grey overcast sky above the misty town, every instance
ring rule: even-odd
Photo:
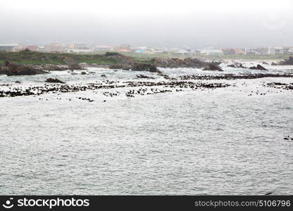
[[[0,43],[293,46],[292,0],[0,0]]]

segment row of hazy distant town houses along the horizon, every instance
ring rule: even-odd
[[[133,53],[176,53],[186,56],[206,55],[292,55],[293,46],[269,46],[256,49],[216,49],[213,47],[206,49],[192,48],[164,48],[148,46],[130,46],[130,44],[121,44],[120,46],[111,45],[89,45],[89,44],[62,44],[51,43],[47,45],[22,45],[22,44],[0,44],[0,51],[18,52],[28,49],[42,53],[97,53],[104,51],[133,52]]]

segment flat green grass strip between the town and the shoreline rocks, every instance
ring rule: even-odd
[[[33,51],[20,51],[20,52],[4,52],[0,51],[0,65],[4,65],[6,60],[12,63],[22,65],[42,65],[42,64],[54,64],[64,65],[64,57],[73,58],[77,63],[88,63],[96,65],[116,65],[118,60],[105,56],[106,52],[99,53],[39,53]],[[151,63],[151,58],[186,58],[190,55],[182,55],[179,53],[135,53],[135,52],[123,52],[125,56],[132,57],[132,60],[143,63]],[[195,55],[191,57],[200,58],[202,60],[283,60],[288,58],[289,55],[222,55],[222,56],[204,56]]]

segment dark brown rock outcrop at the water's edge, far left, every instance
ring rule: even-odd
[[[6,60],[5,67],[1,68],[0,74],[3,75],[38,75],[48,73],[44,70],[34,68],[32,65],[16,65]]]

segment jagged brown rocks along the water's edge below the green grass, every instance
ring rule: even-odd
[[[116,60],[116,65],[104,65],[104,68],[122,69],[133,71],[147,71],[161,73],[158,68],[202,68],[203,70],[223,71],[218,63],[209,63],[197,58],[152,58],[142,62],[137,62],[130,56],[124,56],[120,53],[107,52],[104,56],[111,60]],[[63,56],[61,59],[66,65],[18,65],[6,60],[5,66],[0,67],[0,75],[37,75],[45,74],[49,71],[63,70],[85,70],[73,58]],[[96,67],[99,65],[85,65],[85,67]]]

